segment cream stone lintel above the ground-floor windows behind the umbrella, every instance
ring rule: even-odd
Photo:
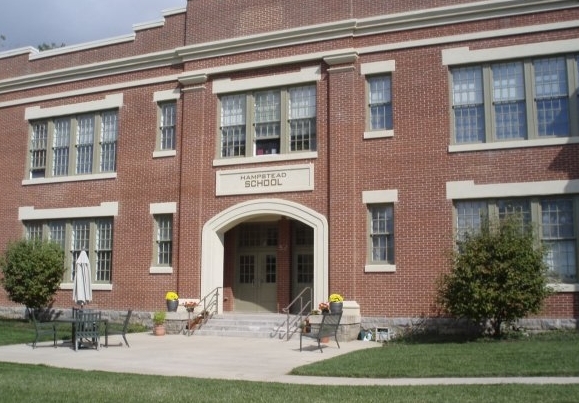
[[[119,214],[118,202],[102,202],[100,206],[36,209],[34,206],[18,208],[18,220],[51,220],[59,218],[109,217]]]

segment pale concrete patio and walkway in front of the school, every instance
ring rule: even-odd
[[[311,364],[350,351],[379,348],[371,341],[340,343],[331,341],[320,353],[315,342],[304,340],[299,351],[299,337],[290,341],[239,337],[209,337],[151,333],[128,334],[130,348],[119,344],[101,347],[99,351],[74,351],[70,343],[40,343],[0,347],[0,361],[44,364],[53,367],[125,372],[149,375],[185,376],[245,381],[325,385],[451,385],[451,384],[565,384],[579,383],[579,377],[540,378],[328,378],[287,375],[301,365]],[[119,343],[119,336],[111,337]],[[368,374],[371,376],[371,374]]]

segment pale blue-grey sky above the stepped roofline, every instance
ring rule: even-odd
[[[0,52],[42,43],[76,45],[133,33],[187,0],[3,0]]]

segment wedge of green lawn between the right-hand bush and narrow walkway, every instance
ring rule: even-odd
[[[579,333],[498,341],[391,342],[291,373],[357,378],[579,376]]]

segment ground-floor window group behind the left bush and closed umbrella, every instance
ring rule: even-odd
[[[48,239],[63,248],[64,282],[72,282],[76,260],[83,250],[91,262],[93,281],[112,282],[112,218],[25,221],[24,226],[29,239]]]

